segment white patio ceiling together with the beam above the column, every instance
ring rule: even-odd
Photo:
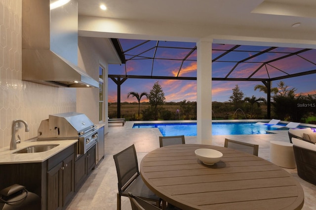
[[[99,8],[101,3],[107,6],[106,11]],[[250,41],[259,45],[263,41],[266,45],[283,42],[316,48],[316,0],[78,0],[78,4],[79,35],[129,38],[126,34],[134,34],[132,38],[156,40],[165,33],[170,40],[179,41],[210,37],[215,43],[234,40],[235,44]],[[112,25],[94,30],[88,21],[80,19],[87,16],[94,23],[111,21]],[[126,33],[112,29],[114,23]],[[293,28],[295,23],[301,25]],[[107,30],[110,35],[100,34]]]

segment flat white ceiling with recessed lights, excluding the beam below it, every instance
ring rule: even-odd
[[[79,15],[316,32],[316,0],[78,0]],[[100,10],[100,3],[107,10]]]

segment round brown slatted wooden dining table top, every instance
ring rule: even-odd
[[[213,166],[194,153],[221,151]],[[177,144],[155,149],[140,164],[146,185],[164,201],[183,210],[302,209],[304,192],[289,173],[260,157],[230,148]]]

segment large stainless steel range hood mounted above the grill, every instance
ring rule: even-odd
[[[52,3],[66,2],[56,8]],[[22,0],[22,80],[99,87],[78,66],[77,0]]]

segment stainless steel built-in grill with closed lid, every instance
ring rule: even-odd
[[[51,114],[42,120],[38,140],[78,139],[78,153],[84,154],[98,139],[97,126],[82,113],[66,112]]]

